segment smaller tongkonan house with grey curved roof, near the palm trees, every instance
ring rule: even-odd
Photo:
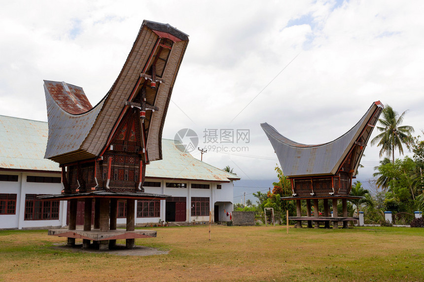
[[[347,199],[360,198],[349,195],[352,179],[355,178],[359,162],[371,132],[377,123],[383,104],[374,102],[359,122],[351,130],[334,141],[319,145],[304,145],[281,135],[274,127],[261,124],[270,140],[284,175],[291,181],[292,196],[283,200],[296,200],[297,215],[288,219],[308,220],[308,227],[319,227],[319,221],[333,221],[333,228],[338,228],[338,221],[348,227],[349,218]],[[318,200],[323,200],[324,216],[319,217]],[[328,200],[332,200],[333,217],[329,216]],[[301,200],[306,200],[307,216],[301,215]],[[311,217],[311,200],[314,202],[314,217]],[[342,201],[343,213],[339,217],[337,201]]]

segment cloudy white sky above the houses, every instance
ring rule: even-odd
[[[144,19],[188,34],[163,137],[192,129],[196,147],[208,150],[204,161],[229,165],[242,178],[235,186],[262,190],[277,180],[264,122],[296,142],[326,143],[380,100],[399,113],[408,110],[404,125],[414,126],[415,135],[424,128],[420,1],[14,0],[1,6],[0,115],[24,119],[47,121],[43,80],[80,86],[97,104]],[[201,157],[198,150],[192,155]],[[357,175],[365,187],[379,160],[379,148],[368,144]]]

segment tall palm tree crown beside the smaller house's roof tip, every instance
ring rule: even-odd
[[[402,143],[407,144],[410,141],[411,133],[414,132],[414,127],[401,125],[405,113],[406,111],[399,116],[392,107],[387,105],[383,110],[383,118],[378,120],[382,127],[377,126],[377,130],[382,133],[371,140],[371,145],[381,146],[380,157],[385,153],[387,156],[391,155],[393,163],[395,149],[397,148],[399,154],[403,155]]]

